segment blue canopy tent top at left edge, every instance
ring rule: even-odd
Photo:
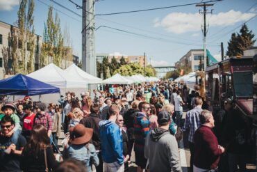
[[[0,81],[0,95],[43,95],[50,93],[60,93],[60,88],[22,74]]]

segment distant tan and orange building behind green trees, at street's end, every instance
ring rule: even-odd
[[[147,67],[147,56],[127,56],[127,55],[110,55],[110,54],[97,54],[97,61],[101,63],[103,61],[103,57],[108,57],[109,63],[112,61],[114,57],[118,62],[123,57],[127,63],[139,63],[140,66]]]

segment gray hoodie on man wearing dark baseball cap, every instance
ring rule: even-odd
[[[150,171],[182,171],[176,138],[160,127],[156,127],[147,135],[144,157],[149,159]]]

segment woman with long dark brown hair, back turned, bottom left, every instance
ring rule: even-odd
[[[43,125],[35,125],[31,139],[22,151],[21,168],[26,171],[53,171],[58,162],[53,155],[47,130]],[[47,157],[47,162],[45,162]]]

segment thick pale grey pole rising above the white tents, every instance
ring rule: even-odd
[[[97,76],[94,53],[94,0],[83,0],[82,7],[82,69]]]

